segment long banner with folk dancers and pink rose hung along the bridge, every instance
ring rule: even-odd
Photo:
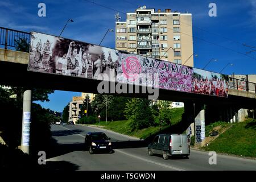
[[[31,32],[28,71],[228,97],[228,76]]]

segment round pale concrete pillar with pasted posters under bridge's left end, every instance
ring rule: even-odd
[[[30,115],[31,115],[31,90],[26,90],[23,94],[22,111],[22,143],[21,150],[29,154],[30,147]]]

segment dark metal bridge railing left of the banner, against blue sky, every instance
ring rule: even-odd
[[[18,47],[17,43],[20,39],[30,44],[30,36],[31,34],[28,32],[0,27],[0,46],[5,49],[15,49]]]

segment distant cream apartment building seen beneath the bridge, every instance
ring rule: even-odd
[[[77,122],[81,113],[81,107],[84,103],[86,95],[89,96],[89,102],[94,100],[95,94],[92,93],[81,93],[81,96],[72,97],[72,101],[69,102],[69,119],[68,121],[73,121],[74,123]]]

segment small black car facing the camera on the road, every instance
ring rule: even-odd
[[[112,153],[112,143],[110,138],[102,132],[89,132],[85,136],[84,140],[85,147],[89,150],[90,154],[95,151],[107,151]]]

